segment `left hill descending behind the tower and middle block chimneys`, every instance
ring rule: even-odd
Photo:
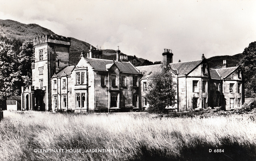
[[[36,36],[47,35],[47,34],[55,34],[55,33],[37,24],[22,24],[14,20],[0,20],[0,36],[6,37],[10,40],[19,39],[22,41],[31,41]],[[78,62],[82,50],[84,50],[84,53],[86,55],[86,53],[90,50],[90,44],[87,42],[78,40],[76,38],[71,38],[70,65],[74,65]],[[109,60],[116,59],[115,50],[107,49],[102,51],[103,51],[104,59],[109,59]],[[139,58],[137,60],[134,60],[133,56],[129,56],[128,58],[130,61],[136,62],[137,63],[135,64],[136,66],[153,64],[153,62],[144,60],[142,58]]]

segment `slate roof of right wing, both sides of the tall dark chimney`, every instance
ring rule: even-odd
[[[191,72],[196,66],[198,66],[202,60],[190,61],[190,62],[178,62],[178,63],[171,63],[170,67],[174,74],[188,74]],[[151,66],[138,66],[136,67],[140,72],[144,73],[147,76],[150,72],[152,72],[147,77],[150,78],[155,73],[161,71],[161,64],[151,65]]]

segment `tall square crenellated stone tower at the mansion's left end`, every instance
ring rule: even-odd
[[[27,103],[29,107],[26,108],[50,111],[50,79],[55,73],[69,66],[71,39],[58,35],[44,35],[34,38],[33,45],[35,62],[32,64],[32,89],[34,89],[34,97],[30,95],[31,101],[28,101],[30,102]],[[22,92],[25,99],[26,93]],[[32,103],[33,100],[35,103]],[[38,108],[39,106],[40,108]]]

